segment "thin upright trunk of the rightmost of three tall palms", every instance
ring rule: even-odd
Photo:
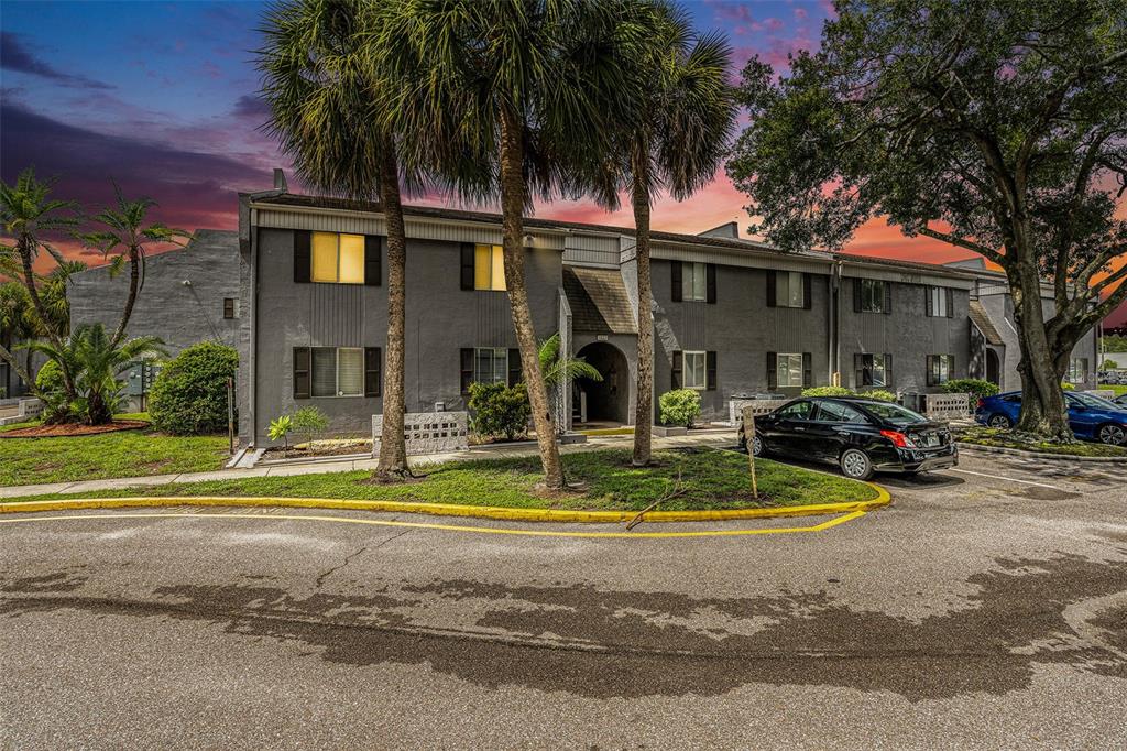
[[[649,275],[649,159],[636,154],[633,186],[635,258],[638,265],[638,382],[635,408],[635,449],[632,463],[645,467],[650,461],[654,435],[654,323]]]

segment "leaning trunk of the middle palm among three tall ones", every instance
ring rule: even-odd
[[[564,466],[548,401],[548,388],[540,370],[536,332],[529,307],[529,291],[524,283],[524,143],[516,114],[502,111],[500,117],[500,201],[504,227],[505,286],[513,309],[513,328],[521,347],[521,366],[532,405],[532,423],[536,428],[540,462],[544,469],[544,485],[564,487]]]

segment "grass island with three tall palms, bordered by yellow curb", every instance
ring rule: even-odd
[[[420,481],[397,485],[373,485],[366,481],[367,472],[355,471],[166,485],[114,492],[114,495],[291,496],[525,509],[641,510],[676,487],[681,492],[662,503],[659,509],[663,511],[805,505],[877,497],[877,492],[863,483],[758,460],[761,498],[756,501],[751,494],[746,456],[701,449],[660,451],[655,459],[656,467],[635,469],[629,463],[630,453],[624,450],[565,454],[568,480],[585,483],[586,489],[550,495],[534,487],[541,479],[536,457],[451,462],[428,468],[426,478]],[[83,496],[42,496],[47,497]]]

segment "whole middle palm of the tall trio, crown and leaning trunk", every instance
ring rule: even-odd
[[[525,285],[523,215],[534,194],[579,188],[575,154],[604,152],[621,114],[606,105],[625,82],[627,5],[400,0],[383,9],[374,48],[396,80],[412,81],[399,99],[409,112],[394,113],[401,132],[458,127],[455,145],[434,144],[438,170],[463,198],[499,200],[505,283],[544,483],[564,487]],[[467,174],[467,154],[481,169]]]

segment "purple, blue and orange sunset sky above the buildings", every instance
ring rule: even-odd
[[[686,7],[699,29],[728,35],[737,70],[756,53],[784,69],[789,52],[817,45],[831,12],[817,0]],[[0,175],[12,180],[34,165],[57,177],[60,196],[89,207],[112,197],[113,178],[127,195],[159,202],[156,214],[171,224],[233,229],[234,193],[269,187],[272,168],[289,166],[258,130],[266,111],[251,58],[263,10],[252,1],[2,0]],[[659,201],[654,227],[698,232],[735,220],[745,231],[744,204],[719,174],[689,201]],[[585,202],[542,204],[536,215],[632,224],[628,211]],[[863,227],[849,250],[931,263],[968,255],[884,221]]]

